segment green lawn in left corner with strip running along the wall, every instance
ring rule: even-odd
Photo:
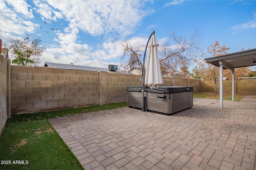
[[[0,139],[0,163],[5,163],[0,164],[0,169],[83,169],[72,149],[68,148],[48,119],[125,106],[127,103],[122,102],[13,115],[6,121]],[[4,160],[10,161],[11,164],[6,164]],[[21,164],[14,164],[16,160]]]

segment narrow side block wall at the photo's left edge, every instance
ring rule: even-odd
[[[10,117],[10,59],[0,55],[0,137]]]

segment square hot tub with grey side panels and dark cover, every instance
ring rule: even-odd
[[[142,109],[142,86],[128,86],[128,106]],[[193,106],[193,87],[191,86],[158,86],[158,89],[145,87],[144,100],[147,111],[172,115]]]

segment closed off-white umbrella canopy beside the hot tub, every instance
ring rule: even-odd
[[[156,35],[152,35],[152,39],[148,47],[149,50],[146,66],[145,84],[150,88],[158,88],[160,84],[163,84],[163,79],[160,70],[158,42],[156,41]]]

